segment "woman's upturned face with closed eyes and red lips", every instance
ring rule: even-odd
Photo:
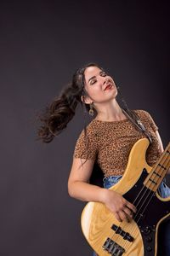
[[[87,103],[94,102],[95,105],[95,103],[111,101],[116,97],[116,84],[99,67],[87,67],[84,72],[84,78],[84,87],[89,96],[89,102]]]

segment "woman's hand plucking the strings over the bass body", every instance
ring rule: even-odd
[[[103,202],[120,222],[123,220],[129,222],[133,218],[133,213],[136,212],[136,207],[132,203],[111,189],[105,189]]]

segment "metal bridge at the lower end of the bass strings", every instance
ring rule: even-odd
[[[105,251],[111,254],[111,256],[122,256],[122,253],[125,252],[125,249],[118,245],[115,241],[111,240],[111,238],[107,238],[103,248]]]

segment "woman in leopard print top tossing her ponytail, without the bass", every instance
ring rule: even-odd
[[[82,201],[102,202],[122,222],[133,218],[136,207],[108,188],[122,177],[128,154],[140,138],[148,135],[152,141],[146,154],[150,166],[154,166],[159,159],[163,146],[150,114],[143,110],[124,111],[116,101],[116,96],[116,84],[111,76],[99,65],[88,64],[77,70],[71,84],[49,106],[41,118],[43,124],[38,135],[44,143],[51,142],[73,118],[78,102],[88,109],[89,114],[94,115],[77,139],[68,180],[69,195]],[[145,132],[139,131],[133,124],[136,117],[144,125]],[[104,174],[103,188],[89,183],[95,162]],[[170,189],[164,183],[161,183],[159,191],[162,197],[170,196]],[[166,239],[163,255],[170,253],[168,229],[170,222],[163,227]]]

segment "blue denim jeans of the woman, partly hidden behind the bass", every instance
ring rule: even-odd
[[[122,178],[122,176],[110,176],[110,177],[104,177],[104,188],[109,189]],[[166,198],[170,196],[170,188],[167,187],[166,183],[162,182],[159,189],[158,189],[159,195],[161,197]],[[161,244],[161,246],[160,246]],[[167,221],[163,222],[160,225],[159,229],[159,248],[160,252],[157,252],[157,256],[169,256],[170,255],[170,219],[167,219]],[[96,253],[93,254],[94,256],[97,256]]]

